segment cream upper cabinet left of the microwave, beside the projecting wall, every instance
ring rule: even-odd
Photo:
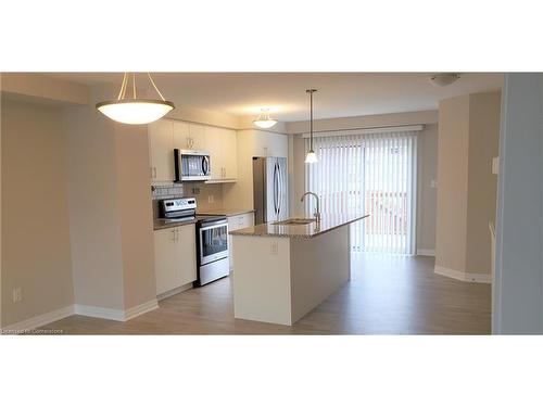
[[[152,181],[173,181],[174,175],[174,123],[156,120],[148,125],[149,155]]]

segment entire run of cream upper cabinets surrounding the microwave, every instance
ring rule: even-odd
[[[172,181],[174,149],[207,151],[211,182],[235,182],[238,177],[236,130],[162,119],[149,124],[151,180]]]

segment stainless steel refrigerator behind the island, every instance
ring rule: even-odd
[[[289,217],[289,183],[286,157],[253,157],[255,225]]]

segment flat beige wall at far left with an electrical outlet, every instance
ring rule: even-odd
[[[74,294],[62,113],[2,94],[1,116],[5,327],[71,306]]]

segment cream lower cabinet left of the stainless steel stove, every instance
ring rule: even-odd
[[[154,272],[156,295],[162,295],[197,279],[194,225],[154,231]]]

